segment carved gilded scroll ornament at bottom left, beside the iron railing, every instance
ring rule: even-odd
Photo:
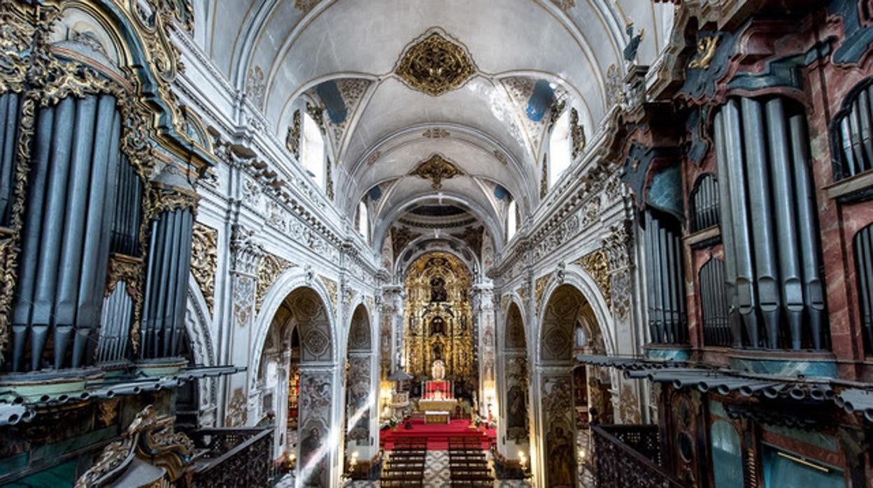
[[[166,470],[169,481],[182,476],[194,455],[194,443],[173,430],[174,416],[158,416],[148,405],[134,417],[120,440],[109,443],[97,462],[76,480],[75,488],[111,485],[134,459]]]

